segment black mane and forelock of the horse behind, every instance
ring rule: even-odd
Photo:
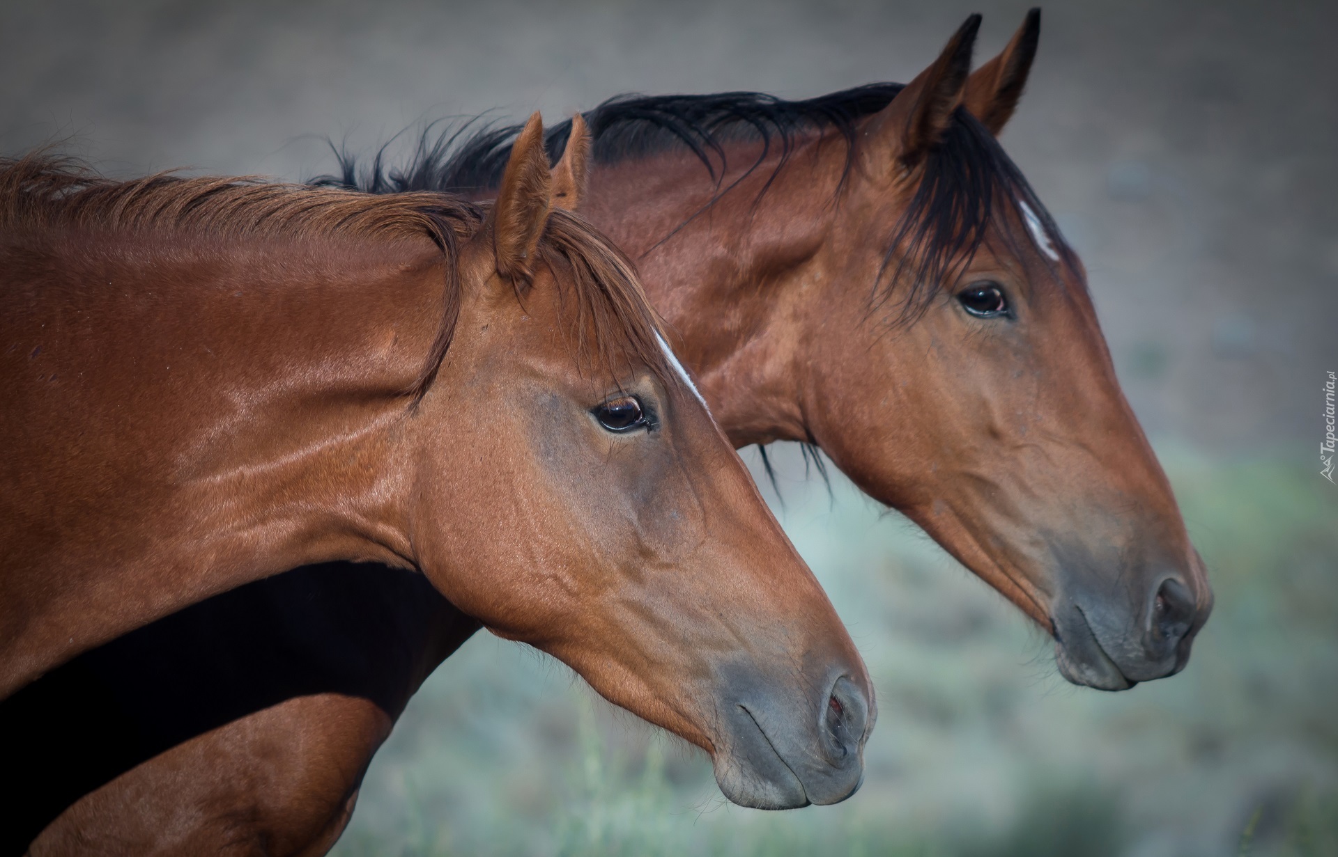
[[[775,155],[760,199],[795,146],[815,134],[835,132],[846,144],[846,164],[835,190],[839,197],[855,163],[860,122],[887,107],[903,88],[900,83],[871,83],[793,102],[760,92],[619,95],[586,112],[585,120],[594,138],[597,163],[621,163],[672,150],[688,151],[701,160],[719,190],[678,226],[682,229]],[[519,131],[520,126],[496,126],[484,118],[442,131],[428,126],[403,167],[387,166],[388,146],[377,150],[365,168],[356,156],[337,151],[339,172],[312,183],[372,194],[484,193],[500,183]],[[567,120],[545,135],[554,162],[566,148],[570,132]],[[727,147],[740,140],[760,140],[761,151],[739,178],[723,185],[729,168]],[[1026,178],[994,135],[965,108],[955,111],[943,139],[926,156],[919,179],[911,203],[888,233],[884,259],[872,283],[871,312],[891,303],[898,308],[898,321],[917,318],[953,275],[970,263],[1001,201],[1020,223],[1026,222],[1021,206],[1029,207],[1050,237],[1061,263],[1076,270],[1076,257]],[[1044,255],[1030,230],[1022,231],[1032,249]],[[1012,243],[1010,230],[998,233]],[[910,283],[906,294],[894,295],[895,283],[903,279]]]

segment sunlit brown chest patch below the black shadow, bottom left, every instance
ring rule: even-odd
[[[163,753],[122,775],[115,789],[94,791],[29,853],[324,854],[348,824],[353,783],[391,725],[367,699],[290,699]]]

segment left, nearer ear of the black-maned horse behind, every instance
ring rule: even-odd
[[[904,166],[918,164],[951,124],[966,91],[979,27],[979,15],[967,17],[938,59],[870,122],[868,135],[888,143]]]

